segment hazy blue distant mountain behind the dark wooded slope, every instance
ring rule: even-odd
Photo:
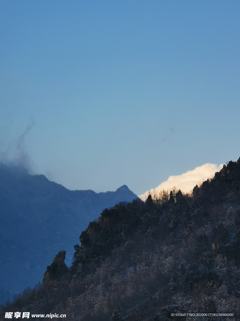
[[[42,281],[60,250],[67,251],[71,265],[73,246],[89,221],[104,208],[136,198],[126,185],[106,193],[71,191],[44,175],[0,164],[0,302]]]

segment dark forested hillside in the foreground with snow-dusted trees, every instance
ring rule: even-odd
[[[191,195],[162,191],[145,203],[105,209],[80,242],[71,268],[60,252],[43,285],[19,294],[2,315],[31,311],[64,313],[68,321],[152,321],[175,320],[171,312],[232,312],[233,318],[194,320],[239,320],[240,158]]]

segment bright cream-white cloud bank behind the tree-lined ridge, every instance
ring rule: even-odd
[[[177,190],[180,189],[185,193],[190,192],[197,184],[199,185],[200,182],[203,182],[204,180],[214,176],[214,174],[220,171],[222,167],[223,164],[220,164],[218,166],[217,164],[211,163],[198,166],[195,169],[189,170],[188,172],[181,175],[170,176],[168,180],[160,184],[158,187],[152,188],[150,189],[150,191],[147,191],[144,194],[139,195],[138,197],[145,201],[149,195],[149,192],[159,192],[162,189],[172,189],[173,187],[176,187]]]

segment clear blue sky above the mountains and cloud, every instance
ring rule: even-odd
[[[1,1],[0,156],[141,194],[240,156],[239,1]]]

